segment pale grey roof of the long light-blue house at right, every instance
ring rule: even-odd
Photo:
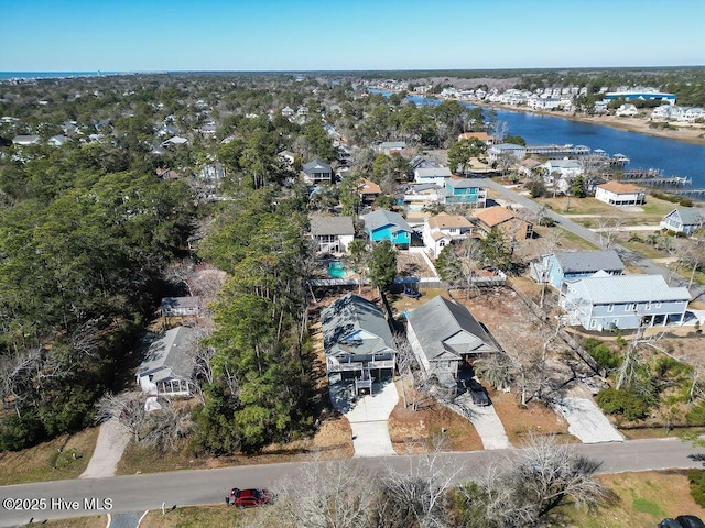
[[[570,283],[583,290],[594,305],[690,300],[683,286],[671,287],[661,275],[609,275],[585,277]]]

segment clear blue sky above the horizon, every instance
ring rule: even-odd
[[[705,0],[0,0],[0,72],[705,65]]]

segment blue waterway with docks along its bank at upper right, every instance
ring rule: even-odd
[[[369,90],[390,95],[381,90]],[[408,96],[420,106],[438,105],[440,99]],[[473,108],[474,105],[462,102]],[[529,145],[586,145],[603,148],[609,155],[625,154],[631,162],[627,168],[658,168],[664,176],[692,178],[692,188],[705,188],[705,145],[668,140],[614,129],[598,123],[584,123],[553,116],[495,109],[497,119],[506,122],[508,133],[521,135]],[[485,111],[487,114],[487,110]]]

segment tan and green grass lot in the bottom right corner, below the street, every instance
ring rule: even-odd
[[[565,507],[565,522],[574,528],[655,527],[665,517],[691,514],[705,518],[705,509],[691,497],[685,472],[648,471],[599,477],[615,493],[614,504],[598,512]]]

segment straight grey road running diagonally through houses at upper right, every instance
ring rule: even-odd
[[[527,196],[514,193],[513,190],[508,189],[507,187],[505,187],[501,184],[498,184],[495,180],[487,179],[487,186],[500,193],[507,199],[510,199],[511,201],[516,201],[517,204],[523,206],[530,211],[539,212],[539,209],[541,209],[541,206],[535,201],[533,201],[531,198],[528,198]],[[579,223],[574,222],[568,217],[558,215],[557,212],[552,211],[551,209],[546,209],[545,213],[546,216],[551,217],[563,229],[566,229],[572,233],[577,234],[582,239],[587,240],[588,242],[597,245],[598,248],[601,246],[599,234],[596,234],[592,230],[581,226]],[[620,258],[625,263],[632,264],[643,270],[646,273],[650,275],[662,275],[671,286],[687,286],[688,280],[683,278],[681,275],[672,273],[670,270],[659,266],[650,258],[646,258],[642,255],[619,244],[612,244],[611,249],[614,249],[615,251],[617,251],[617,253],[619,253]],[[693,299],[697,299],[703,294],[705,294],[705,287],[698,284],[693,284],[693,286],[690,288],[690,292]]]

